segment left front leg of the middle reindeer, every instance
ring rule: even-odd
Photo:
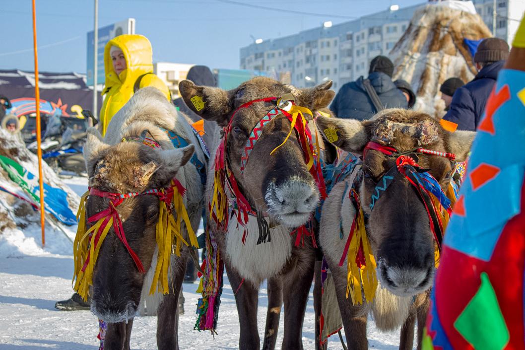
[[[235,293],[235,303],[239,314],[239,350],[259,350],[259,330],[257,328],[257,303],[259,291],[249,281],[243,281],[238,272],[225,260],[226,274]],[[241,283],[243,283],[241,285]],[[240,288],[239,288],[240,286]]]

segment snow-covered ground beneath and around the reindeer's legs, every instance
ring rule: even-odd
[[[78,195],[87,190],[87,179],[72,177],[65,182]],[[66,232],[72,238],[76,228]],[[0,349],[36,350],[41,348],[76,350],[97,349],[97,319],[89,311],[64,312],[55,302],[72,294],[72,243],[66,234],[49,227],[46,248],[40,247],[40,228],[27,227],[0,233]],[[265,324],[267,292],[259,294],[259,332]],[[193,330],[197,283],[184,284],[186,313],[180,317],[178,336],[181,349],[237,349],[239,321],[232,288],[225,279],[219,313],[218,334]],[[278,346],[282,341],[283,317],[279,327]],[[133,324],[131,348],[156,349],[156,317],[137,317]],[[398,332],[384,334],[369,324],[370,348],[398,348]],[[305,349],[314,349],[314,313],[312,294],[303,326]],[[341,349],[337,336],[332,336],[329,349]]]

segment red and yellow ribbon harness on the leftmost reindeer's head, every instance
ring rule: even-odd
[[[146,132],[143,132],[140,137],[129,137],[123,139],[123,141],[141,142],[148,147],[159,148],[160,145],[158,142],[145,137]],[[133,249],[131,249],[126,239],[117,207],[122,204],[125,199],[150,194],[156,195],[160,200],[159,219],[156,223],[155,230],[158,259],[153,282],[150,287],[150,294],[153,294],[155,289],[164,294],[168,293],[169,285],[167,275],[170,267],[171,254],[180,256],[182,243],[187,246],[191,244],[195,248],[198,248],[197,238],[191,227],[190,219],[182,199],[185,192],[186,189],[175,178],[171,181],[171,185],[168,188],[150,189],[144,192],[113,193],[100,191],[96,188],[89,188],[89,190],[82,195],[77,212],[78,229],[73,245],[75,274],[72,281],[75,291],[77,291],[84,300],[87,300],[89,286],[92,285],[93,269],[97,261],[98,253],[111,227],[128,250],[137,269],[141,273],[145,273],[142,262]],[[107,209],[91,215],[91,217],[87,219],[87,222],[93,225],[86,231],[86,202],[89,195],[109,199],[109,205]],[[174,213],[176,214],[176,218]],[[182,221],[184,221],[186,225],[186,230],[190,237],[190,244],[188,244],[182,236]]]

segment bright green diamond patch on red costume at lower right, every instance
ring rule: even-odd
[[[476,350],[501,350],[509,342],[509,330],[487,273],[481,273],[481,285],[454,327]]]

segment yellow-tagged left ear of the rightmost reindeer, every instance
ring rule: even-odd
[[[360,120],[318,117],[316,123],[328,142],[347,152],[362,153],[370,138]]]

